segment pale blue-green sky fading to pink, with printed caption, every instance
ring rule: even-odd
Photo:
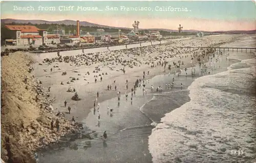
[[[69,6],[74,6],[73,10],[63,11]],[[26,11],[18,10],[20,7],[27,7]],[[98,10],[92,11],[96,7]],[[127,8],[143,11],[126,11]],[[6,18],[70,19],[126,28],[133,28],[133,22],[138,20],[141,29],[177,30],[181,24],[183,30],[256,30],[256,5],[255,1],[2,1],[1,19]]]

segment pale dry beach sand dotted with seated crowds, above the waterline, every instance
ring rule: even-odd
[[[37,63],[34,65],[33,73],[36,78],[42,81],[46,91],[49,87],[51,87],[51,91],[49,92],[49,94],[51,97],[56,98],[55,102],[52,104],[54,109],[57,108],[55,112],[67,112],[67,108],[63,107],[63,102],[67,100],[67,106],[71,107],[72,113],[71,115],[67,115],[68,118],[71,119],[71,117],[74,116],[76,117],[76,120],[81,121],[83,118],[87,117],[88,113],[90,112],[90,108],[93,107],[93,102],[96,98],[97,92],[99,92],[99,102],[116,97],[118,91],[120,91],[121,94],[123,94],[125,91],[130,92],[131,88],[134,86],[135,80],[138,78],[142,78],[143,71],[145,71],[146,74],[145,79],[152,78],[157,74],[164,73],[164,67],[157,66],[157,62],[159,61],[161,62],[161,64],[163,61],[167,61],[168,64],[172,64],[173,62],[177,63],[177,61],[182,60],[180,59],[180,57],[183,56],[184,61],[182,61],[184,62],[184,65],[181,65],[181,68],[191,67],[191,65],[194,65],[196,63],[196,60],[192,60],[193,63],[191,64],[191,55],[193,57],[193,53],[196,52],[195,49],[193,49],[195,51],[189,51],[185,49],[181,50],[175,49],[175,46],[200,46],[201,44],[205,46],[210,43],[212,44],[214,41],[216,41],[216,43],[222,42],[225,40],[224,38],[230,39],[232,38],[232,36],[217,36],[211,37],[210,39],[194,39],[193,41],[191,41],[190,39],[176,40],[172,41],[170,45],[156,45],[159,47],[152,48],[145,46],[143,47],[145,48],[143,50],[143,53],[139,49],[137,49],[137,51],[135,52],[140,53],[140,56],[129,54],[129,52],[125,55],[125,53],[121,51],[115,52],[114,56],[111,56],[112,52],[108,52],[110,53],[108,56],[104,55],[104,52],[103,54],[96,53],[94,56],[91,55],[90,57],[98,59],[94,60],[93,64],[90,63],[90,66],[76,66],[73,62],[53,62],[50,65],[48,63],[42,63],[42,65],[39,65],[39,63]],[[74,56],[74,52],[77,51],[66,51],[65,55],[68,55],[68,53],[70,53],[71,56]],[[56,53],[55,55],[57,56]],[[62,55],[62,53],[60,55]],[[78,53],[76,53],[76,55],[78,55]],[[96,55],[98,57],[96,57]],[[185,59],[186,55],[188,56],[188,58]],[[172,58],[170,56],[172,56]],[[108,58],[108,60],[110,61],[106,62],[106,58]],[[98,60],[101,60],[102,62],[99,62]],[[118,61],[116,62],[116,60]],[[123,72],[120,70],[124,67],[124,65],[122,65],[121,63],[124,60],[135,62],[135,65],[130,63],[125,64],[125,74],[123,74]],[[147,63],[150,63],[150,65],[148,65]],[[155,64],[155,68],[151,68],[151,65],[153,65],[152,63]],[[133,68],[128,68],[129,65],[132,65]],[[53,68],[52,72],[50,71],[51,68]],[[97,71],[96,68],[100,68],[100,71]],[[46,72],[44,70],[46,70]],[[174,71],[178,71],[179,68],[174,68],[174,66],[172,65],[171,70],[173,73]],[[61,75],[62,72],[65,71],[67,72],[67,75]],[[95,71],[95,73],[93,73],[93,71]],[[147,75],[147,71],[150,71],[149,75]],[[89,72],[90,75],[88,75],[87,72]],[[104,73],[104,75],[102,75],[102,73]],[[108,75],[105,75],[106,73]],[[99,74],[102,75],[102,82],[100,82]],[[166,74],[168,74],[167,68]],[[96,75],[98,77],[95,77]],[[70,84],[67,84],[67,82],[70,80],[70,77],[74,77],[75,79],[79,78],[79,80],[75,80],[74,82],[70,82]],[[95,78],[97,78],[98,80],[97,83],[95,83]],[[128,90],[126,90],[126,79],[128,80],[129,85]],[[115,84],[114,81],[116,81]],[[61,82],[63,82],[63,85],[60,85]],[[107,91],[108,85],[112,86],[111,91]],[[117,91],[115,91],[115,86],[117,86]],[[79,97],[82,100],[78,102],[71,100],[74,92],[67,92],[69,88],[75,88]]]

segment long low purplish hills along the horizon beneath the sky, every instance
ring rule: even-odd
[[[1,19],[1,23],[3,24],[11,24],[11,23],[31,23],[31,24],[65,24],[65,25],[76,25],[76,21],[74,20],[60,20],[60,21],[46,21],[46,20],[19,20],[19,19]],[[88,21],[80,21],[80,25],[82,26],[97,26],[99,28],[112,28],[112,29],[123,29],[123,30],[133,30],[133,28],[123,28],[116,26],[108,26],[95,24]],[[149,31],[166,31],[166,32],[178,32],[178,30],[169,30],[169,29],[141,29],[141,30],[149,30]],[[183,30],[184,33],[196,33],[198,30]],[[256,30],[251,31],[215,31],[208,32],[202,31],[204,33],[230,33],[230,34],[255,34]]]

